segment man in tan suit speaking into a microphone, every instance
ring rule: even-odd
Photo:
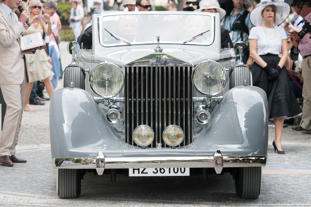
[[[26,11],[19,20],[13,9],[21,0],[3,0],[0,5],[0,88],[7,104],[0,140],[0,164],[13,166],[13,162],[26,162],[15,156],[15,146],[21,128],[21,118],[26,95],[27,64],[24,53],[35,53],[36,49],[21,51],[20,38],[29,18]]]

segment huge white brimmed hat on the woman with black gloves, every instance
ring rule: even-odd
[[[251,11],[251,14],[249,16],[254,26],[259,26],[263,23],[263,16],[261,15],[261,12],[264,8],[272,5],[276,7],[276,25],[281,25],[282,22],[286,20],[286,18],[290,14],[290,5],[288,3],[285,3],[284,0],[264,0],[260,2],[258,6],[253,9],[253,11]]]

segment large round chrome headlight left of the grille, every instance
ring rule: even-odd
[[[104,98],[114,97],[123,88],[123,73],[117,65],[101,63],[92,70],[90,85],[98,96]]]

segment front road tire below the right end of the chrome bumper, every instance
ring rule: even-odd
[[[261,190],[262,167],[237,168],[234,182],[235,191],[244,199],[258,198]]]

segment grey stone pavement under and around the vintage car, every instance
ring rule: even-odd
[[[65,45],[61,43],[63,67],[71,61]],[[117,182],[110,182],[109,174],[87,173],[77,199],[59,199],[49,146],[49,101],[33,108],[33,113],[24,112],[16,150],[17,157],[27,163],[0,165],[0,206],[311,206],[311,136],[292,131],[290,126],[283,129],[286,155],[274,153],[274,128],[269,127],[268,161],[256,200],[237,197],[228,173],[209,175],[207,181],[202,175],[155,178],[117,174]]]

